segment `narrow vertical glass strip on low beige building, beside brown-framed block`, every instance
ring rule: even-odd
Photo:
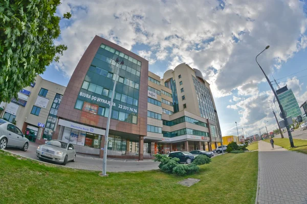
[[[54,133],[54,129],[56,127],[55,123],[56,123],[56,115],[57,115],[57,111],[59,109],[61,100],[62,100],[63,95],[61,94],[55,94],[55,97],[53,99],[53,103],[46,121],[46,126],[45,126],[45,130],[43,132],[42,138],[46,138],[47,140],[51,140],[52,139],[52,135]]]

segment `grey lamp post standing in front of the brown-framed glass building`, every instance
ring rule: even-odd
[[[109,113],[108,113],[107,122],[106,122],[105,137],[104,137],[103,163],[102,163],[102,175],[103,176],[106,176],[107,140],[108,140],[108,133],[109,133],[109,129],[110,129],[110,120],[111,120],[111,113],[112,113],[112,107],[113,107],[113,98],[114,98],[114,93],[115,93],[115,87],[116,87],[116,82],[118,80],[118,73],[119,73],[120,65],[123,66],[124,61],[122,60],[120,62],[120,65],[119,65],[119,59],[116,58],[116,63],[118,64],[118,69],[117,69],[117,73],[116,73],[116,78],[114,80],[113,92],[112,92],[111,103],[110,103]]]

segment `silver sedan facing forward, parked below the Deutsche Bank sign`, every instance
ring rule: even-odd
[[[53,161],[66,165],[69,161],[76,161],[76,150],[71,143],[50,140],[46,144],[37,147],[36,156],[40,160]]]

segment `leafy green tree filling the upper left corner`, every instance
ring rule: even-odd
[[[0,1],[0,101],[17,98],[67,49],[53,42],[60,35],[59,5],[60,0]]]

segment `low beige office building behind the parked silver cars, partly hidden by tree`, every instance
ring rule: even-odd
[[[20,90],[17,99],[0,104],[0,116],[16,124],[31,142],[43,144],[56,130],[57,109],[65,88],[37,75],[31,86]]]

